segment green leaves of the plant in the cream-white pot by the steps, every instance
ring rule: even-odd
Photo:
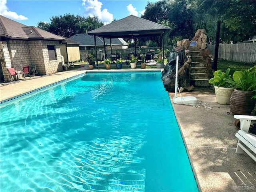
[[[233,82],[229,72],[230,68],[226,72],[222,72],[221,70],[214,71],[214,77],[209,79],[209,83],[217,87],[232,87]]]

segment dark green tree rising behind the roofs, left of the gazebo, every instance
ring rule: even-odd
[[[74,14],[64,14],[63,16],[52,16],[50,21],[49,24],[39,22],[37,27],[66,38],[104,26],[104,23],[96,16],[84,18]]]

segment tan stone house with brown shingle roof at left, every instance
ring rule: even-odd
[[[23,66],[36,64],[40,75],[62,71],[60,44],[65,41],[66,38],[1,15],[1,81],[10,81],[7,68],[11,67],[21,70]]]

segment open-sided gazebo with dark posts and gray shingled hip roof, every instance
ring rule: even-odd
[[[105,58],[106,58],[105,38],[110,39],[111,54],[112,54],[113,38],[134,38],[135,55],[136,55],[136,38],[146,37],[146,36],[148,37],[160,36],[160,43],[161,43],[160,45],[161,45],[163,56],[164,56],[164,44],[163,44],[164,34],[169,30],[170,28],[164,25],[161,25],[140,17],[136,17],[134,15],[130,15],[128,17],[122,18],[108,25],[89,31],[88,34],[94,36],[96,55],[97,55],[96,36],[103,38]],[[96,62],[98,65],[98,59]]]

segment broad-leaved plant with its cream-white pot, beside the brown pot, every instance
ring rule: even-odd
[[[230,102],[230,96],[234,91],[232,87],[231,75],[229,74],[230,68],[226,70],[226,72],[222,72],[221,70],[214,71],[214,77],[209,79],[209,83],[214,86],[216,101],[218,104],[228,105]]]

